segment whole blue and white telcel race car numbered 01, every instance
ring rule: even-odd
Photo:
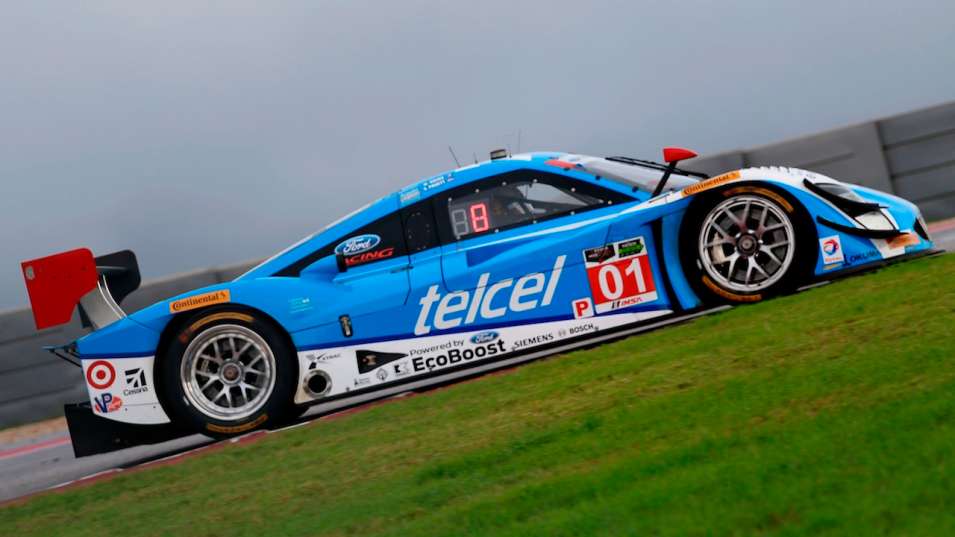
[[[132,252],[22,264],[39,328],[76,305],[78,455],[227,437],[714,305],[927,253],[915,205],[809,171],[492,153],[389,194],[232,282],[127,315]]]

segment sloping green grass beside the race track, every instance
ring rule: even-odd
[[[0,509],[0,535],[955,535],[955,255]]]

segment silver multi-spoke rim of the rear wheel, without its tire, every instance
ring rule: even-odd
[[[275,356],[254,331],[214,326],[186,347],[180,372],[186,398],[210,418],[238,421],[262,408],[275,387]]]

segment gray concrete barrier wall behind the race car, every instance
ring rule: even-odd
[[[955,215],[955,102],[780,143],[690,161],[716,174],[747,166],[794,166],[895,192],[928,220]],[[280,245],[276,245],[277,247]],[[228,281],[251,264],[149,282],[123,303],[134,311],[204,285]],[[78,368],[41,350],[82,335],[79,321],[37,333],[27,309],[0,313],[0,427],[58,415],[86,389]]]

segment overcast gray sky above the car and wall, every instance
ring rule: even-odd
[[[78,246],[146,278],[267,256],[448,144],[657,158],[945,102],[953,28],[951,0],[8,3],[0,308]]]

